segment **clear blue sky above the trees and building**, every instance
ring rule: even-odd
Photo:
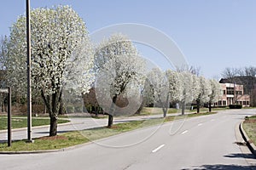
[[[137,23],[163,31],[177,43],[189,65],[208,78],[220,78],[225,67],[256,66],[256,1],[253,0],[31,0],[31,7],[68,4],[90,32],[105,26]],[[26,1],[3,1],[0,35],[25,14]],[[140,48],[140,46],[138,46]],[[166,69],[159,53],[140,48]]]

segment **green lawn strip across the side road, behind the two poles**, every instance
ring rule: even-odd
[[[68,120],[59,119],[58,123],[69,122]],[[49,118],[32,118],[32,127],[49,125]],[[12,117],[12,128],[27,127],[26,117]],[[7,117],[0,116],[0,130],[7,129]]]

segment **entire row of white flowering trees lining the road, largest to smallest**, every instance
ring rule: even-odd
[[[216,81],[196,77],[189,71],[146,71],[145,59],[124,35],[92,44],[84,21],[68,6],[33,9],[31,25],[32,94],[33,98],[41,96],[47,107],[50,136],[57,133],[61,103],[70,96],[76,101],[90,88],[95,89],[98,105],[108,113],[108,127],[114,115],[137,112],[143,98],[159,102],[164,116],[170,101],[180,102],[184,113],[184,105],[193,99],[199,104],[218,99]],[[11,26],[9,37],[3,38],[0,54],[6,86],[26,97],[25,16],[20,16]],[[118,105],[120,98],[127,105]]]

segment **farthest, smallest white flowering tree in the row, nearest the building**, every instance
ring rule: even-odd
[[[211,83],[211,89],[212,92],[209,95],[209,111],[212,111],[212,103],[218,102],[218,99],[221,99],[222,96],[222,88],[221,85],[219,84],[219,82],[217,82],[216,80],[210,80]]]

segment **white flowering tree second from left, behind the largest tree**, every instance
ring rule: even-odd
[[[141,105],[144,60],[127,37],[115,34],[96,48],[95,66],[96,97],[108,113],[111,127],[114,115],[135,114]],[[129,105],[124,108],[116,105],[119,96],[126,98]]]

